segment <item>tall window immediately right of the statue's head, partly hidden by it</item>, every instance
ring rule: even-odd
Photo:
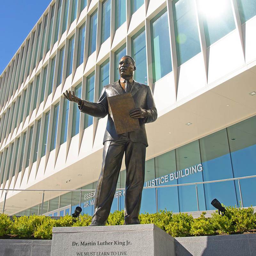
[[[136,71],[134,72],[134,80],[139,83],[147,84],[147,56],[146,52],[146,35],[145,28],[132,36],[132,58],[136,62]]]

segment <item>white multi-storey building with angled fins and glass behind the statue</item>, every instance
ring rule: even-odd
[[[0,75],[0,208],[93,214],[107,117],[63,92],[97,102],[124,55],[158,110],[140,212],[256,206],[255,28],[254,1],[53,0]]]

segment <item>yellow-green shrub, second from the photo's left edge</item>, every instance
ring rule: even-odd
[[[19,238],[28,238],[33,235],[34,229],[41,224],[41,222],[45,219],[45,216],[21,216],[17,218],[13,216],[13,224],[11,227],[11,234],[16,235]]]

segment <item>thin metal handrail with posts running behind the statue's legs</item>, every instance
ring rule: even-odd
[[[238,178],[230,178],[230,179],[223,179],[223,180],[210,180],[210,181],[183,183],[183,184],[159,185],[159,186],[143,187],[143,189],[147,189],[147,188],[156,188],[157,189],[157,188],[169,188],[169,187],[196,185],[196,202],[197,202],[197,210],[199,211],[199,200],[198,200],[198,191],[197,191],[197,185],[198,184],[207,184],[207,183],[214,183],[214,182],[238,180],[239,194],[240,194],[240,198],[241,198],[241,206],[243,208],[244,205],[243,205],[243,198],[242,198],[240,180],[250,179],[250,178],[256,178],[256,175],[244,176],[244,177],[238,177]],[[44,205],[44,193],[46,191],[69,191],[69,192],[70,191],[77,191],[77,192],[80,192],[80,200],[79,200],[80,202],[81,202],[82,191],[95,191],[95,189],[9,189],[9,188],[0,188],[0,191],[1,190],[5,191],[3,213],[4,213],[6,196],[7,196],[8,191],[43,191],[41,214],[43,213],[42,211],[43,211],[43,205]],[[125,188],[116,188],[116,190],[125,190]]]

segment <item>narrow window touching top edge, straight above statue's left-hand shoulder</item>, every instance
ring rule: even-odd
[[[101,20],[101,44],[105,42],[110,36],[110,14],[111,14],[111,1],[105,0],[102,2],[102,20]]]

